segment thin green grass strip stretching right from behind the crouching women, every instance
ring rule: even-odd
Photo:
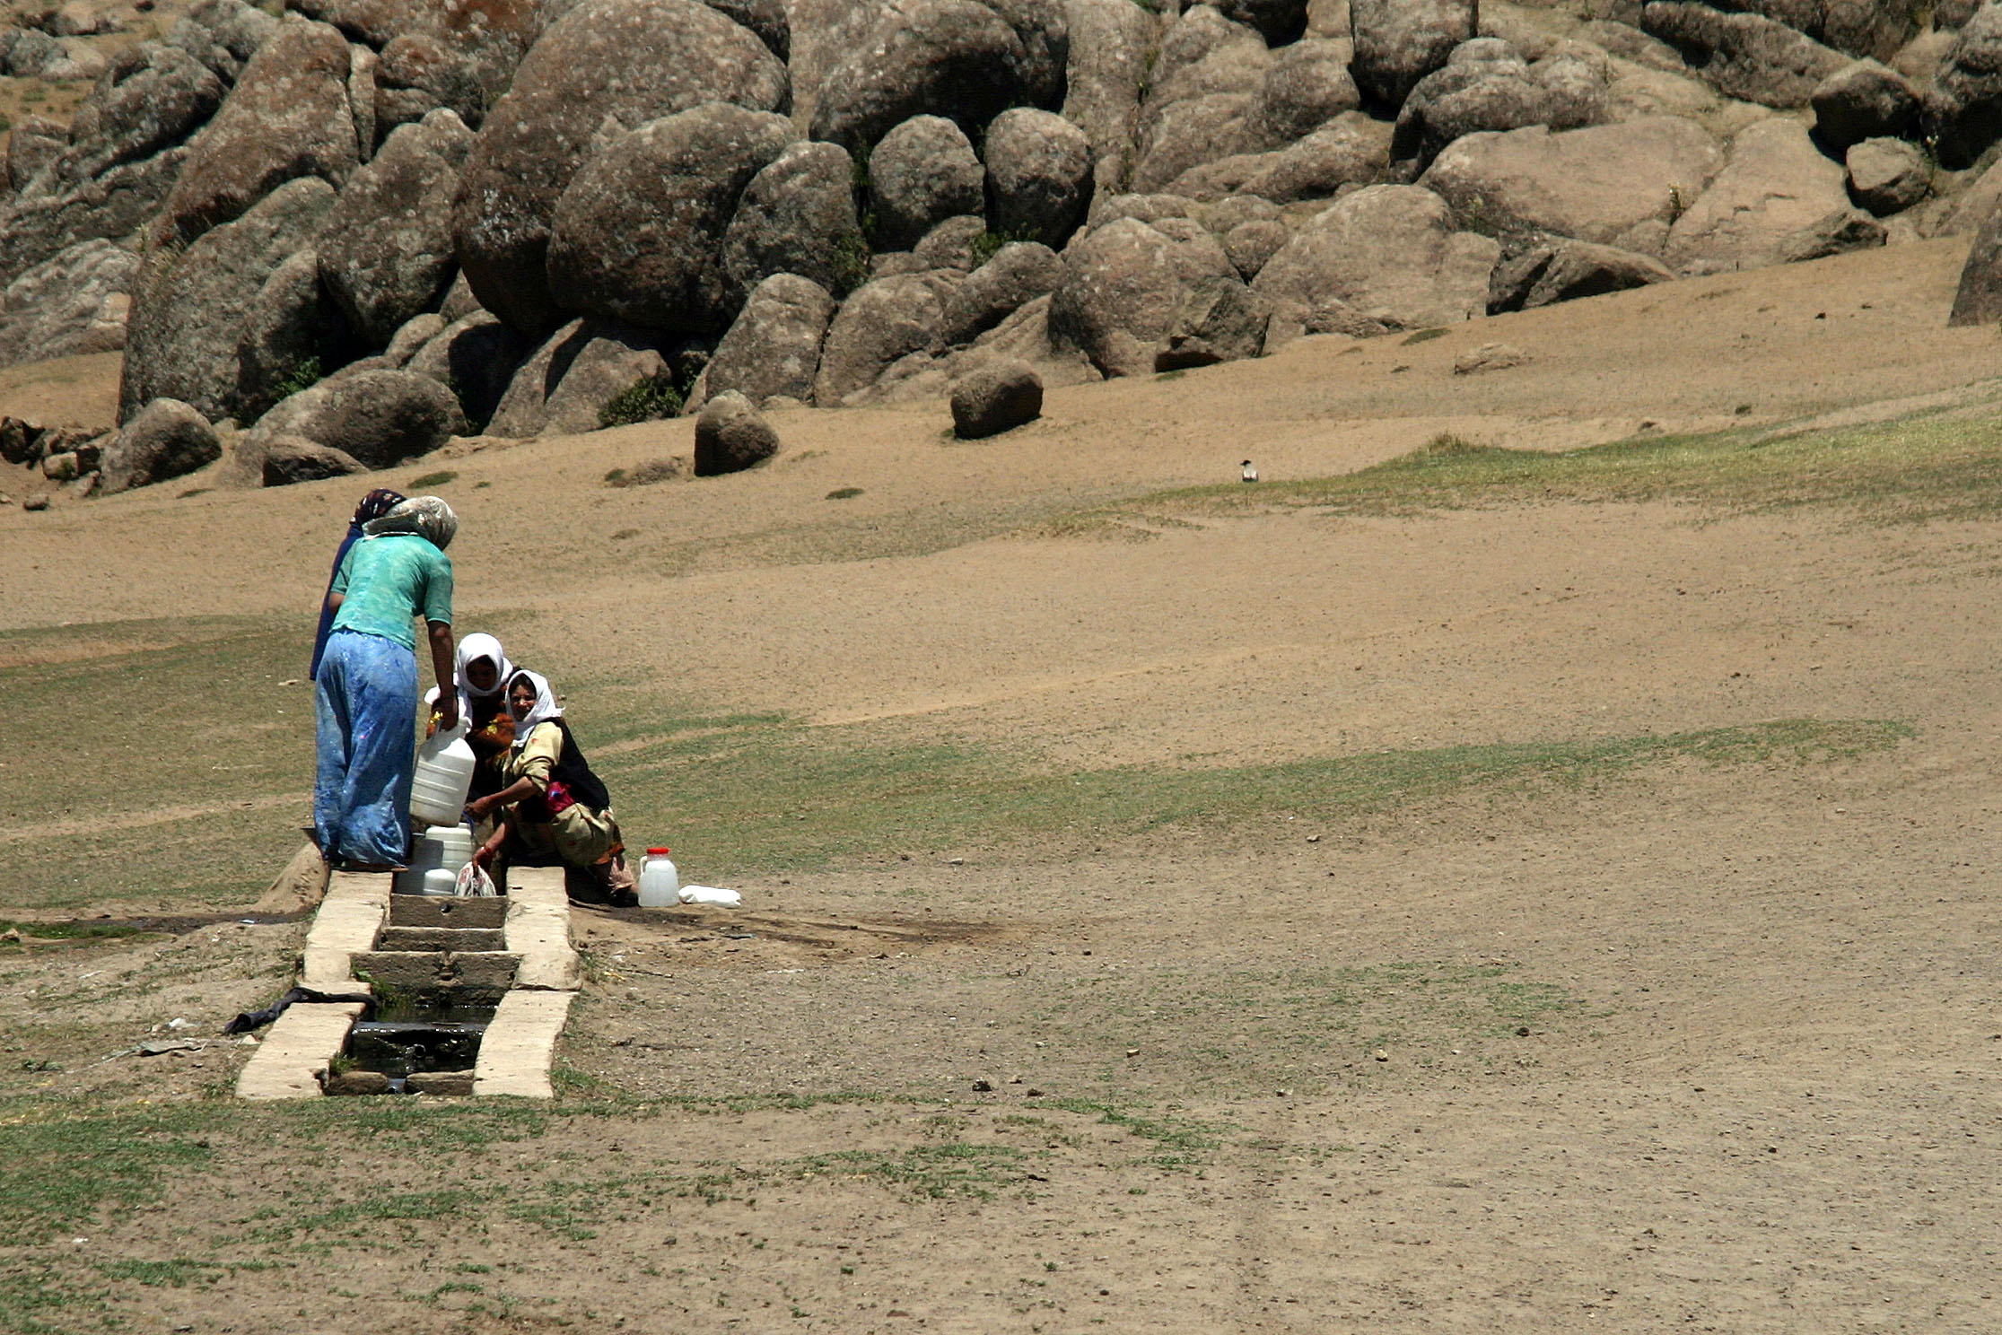
[[[581,725],[583,727],[583,725]],[[825,867],[897,849],[1221,831],[1259,813],[1323,819],[1469,791],[1592,787],[1648,765],[1804,765],[1886,751],[1900,723],[1794,719],[1694,733],[1433,747],[1225,769],[1031,771],[1023,759],[903,743],[867,727],[747,723],[587,753],[627,831],[739,875]],[[677,777],[699,773],[701,785]]]

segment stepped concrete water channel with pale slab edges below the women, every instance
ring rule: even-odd
[[[563,869],[519,867],[505,899],[392,895],[334,873],[306,933],[300,987],[372,997],[294,1003],[236,1081],[242,1099],[519,1095],[549,1063],[583,987]]]

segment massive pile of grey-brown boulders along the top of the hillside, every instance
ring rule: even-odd
[[[677,410],[719,472],[1972,232],[1998,140],[2002,2],[202,0],[16,126],[0,364],[124,348],[102,490]]]

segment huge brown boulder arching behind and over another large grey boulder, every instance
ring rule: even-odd
[[[458,262],[480,304],[525,334],[563,320],[549,284],[551,220],[605,130],[703,102],[789,106],[785,66],[695,0],[583,0],[523,58],[458,178]]]

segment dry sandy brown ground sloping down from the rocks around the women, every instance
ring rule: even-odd
[[[296,658],[356,486],[0,510],[0,673],[82,693],[0,735],[28,935],[0,945],[0,1329],[2002,1327],[1992,518],[1133,500],[1439,432],[1982,420],[2002,340],[1944,328],[1962,254],[1305,340],[1061,390],[983,444],[931,404],[785,414],[781,460],[723,480],[601,480],[685,422],[394,474],[454,474],[460,626],[569,691],[633,841],[747,893],[577,911],[549,1107],[222,1097],[248,1049],[212,1035],[302,925],[238,921],[268,855],[230,897],[158,849],[224,807],[296,843],[308,697],[274,662],[240,731],[180,735],[204,697],[144,652],[200,616]],[[1483,342],[1530,362],[1453,374]],[[96,660],[120,679],[62,677]],[[681,765],[681,725],[613,705],[647,699],[801,751]],[[927,819],[683,841],[755,765],[777,811],[739,825],[831,829],[863,779],[787,757],[851,745],[909,763],[915,793],[865,779]],[[987,769],[927,787],[935,749]],[[140,753],[176,783],[120,785]],[[1437,779],[1467,757],[1497,769]],[[1323,791],[1369,765],[1375,799]],[[989,771],[1075,785],[1075,819],[991,805]],[[132,875],[60,891],[134,829]],[[52,937],[98,913],[164,919]]]

